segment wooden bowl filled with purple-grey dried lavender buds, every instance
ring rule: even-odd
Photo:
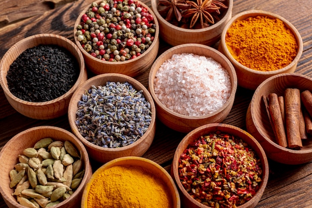
[[[147,88],[118,73],[96,75],[74,92],[68,107],[72,132],[89,156],[106,163],[141,157],[156,132],[156,108]]]

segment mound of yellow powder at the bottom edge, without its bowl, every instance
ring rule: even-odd
[[[173,208],[166,190],[140,167],[114,166],[95,178],[87,208]]]

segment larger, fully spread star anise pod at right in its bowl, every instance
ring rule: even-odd
[[[216,15],[212,14],[216,12],[220,14],[220,8],[227,8],[221,1],[223,0],[197,0],[194,1],[186,1],[187,4],[190,4],[190,8],[183,12],[183,17],[192,17],[190,21],[190,28],[192,28],[197,20],[200,20],[201,27],[204,27],[204,23],[214,24],[214,17]]]

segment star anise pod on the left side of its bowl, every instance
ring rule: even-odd
[[[174,16],[176,20],[180,21],[182,18],[181,11],[190,8],[190,5],[185,3],[185,0],[158,0],[158,5],[166,6],[158,10],[160,14],[166,14],[166,21],[172,20]]]

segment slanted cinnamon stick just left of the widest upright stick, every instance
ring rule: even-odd
[[[282,113],[280,109],[279,99],[276,93],[271,93],[268,95],[269,99],[269,111],[272,119],[273,126],[275,129],[276,141],[282,147],[287,147],[287,138],[284,128]]]

